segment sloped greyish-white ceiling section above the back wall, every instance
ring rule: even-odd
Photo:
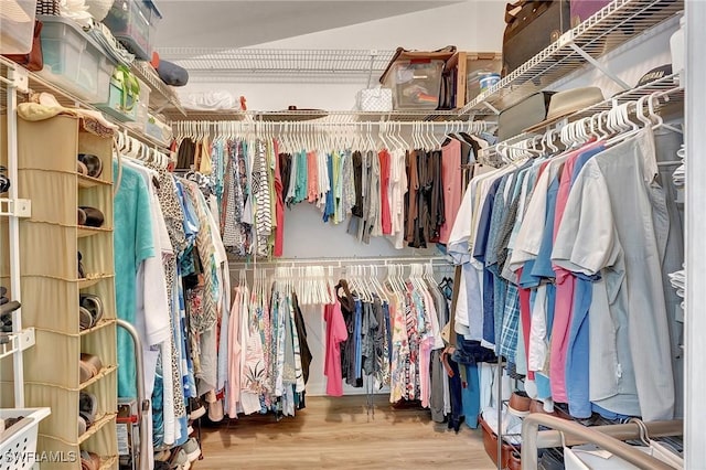
[[[157,25],[157,47],[235,49],[459,1],[157,0],[156,3],[163,17]],[[327,45],[321,44],[321,49]]]

